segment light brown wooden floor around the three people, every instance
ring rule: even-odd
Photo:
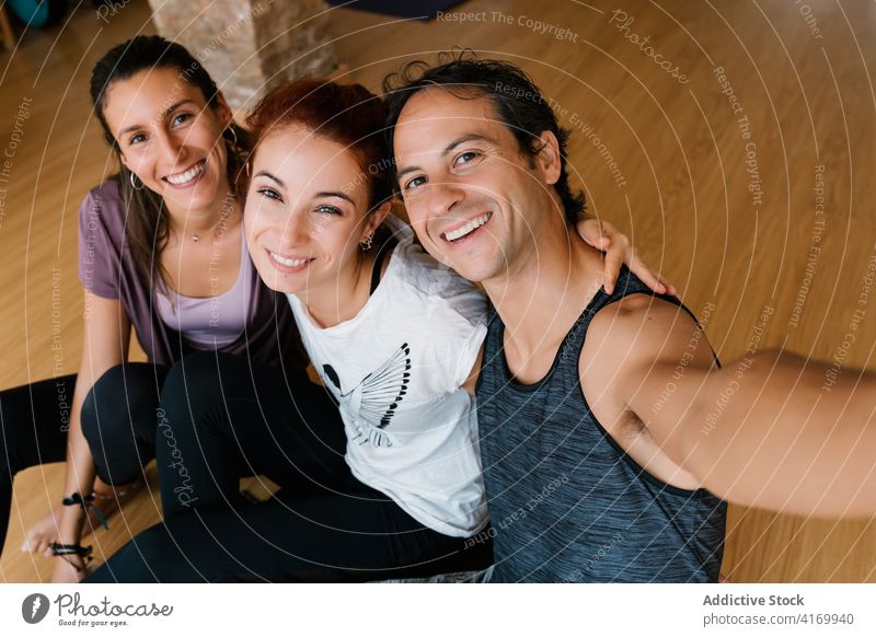
[[[337,10],[332,28],[351,77],[373,90],[401,62],[453,46],[526,67],[576,129],[570,165],[590,211],[631,233],[707,314],[722,358],[746,351],[765,311],[766,346],[839,356],[842,373],[876,369],[876,308],[863,288],[876,257],[876,3],[621,4],[625,16],[609,2],[472,0],[458,9],[481,21],[462,25]],[[111,44],[153,31],[142,0],[110,24],[83,7],[65,28],[27,32],[0,54],[0,152],[14,155],[0,182],[0,387],[77,370],[76,212],[114,169],[90,120],[89,71]],[[18,546],[60,498],[60,476],[53,465],[16,477],[0,579],[50,574]],[[101,551],[158,520],[151,487],[97,534]],[[733,508],[728,531],[731,581],[876,581],[869,521]]]

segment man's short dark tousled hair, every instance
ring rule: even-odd
[[[446,54],[447,55],[447,54]],[[441,88],[460,99],[486,97],[499,120],[517,139],[520,151],[530,159],[542,149],[540,136],[550,130],[560,143],[560,178],[555,187],[566,222],[575,224],[584,217],[584,193],[573,193],[566,172],[566,143],[569,131],[562,128],[550,104],[532,80],[510,62],[453,55],[436,67],[425,61],[407,62],[383,80],[387,105],[387,136],[393,149],[395,124],[407,101],[424,89]],[[394,167],[397,167],[394,165]],[[397,183],[393,175],[393,183]]]

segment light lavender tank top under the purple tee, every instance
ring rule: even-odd
[[[183,340],[191,347],[224,347],[243,334],[252,292],[244,285],[245,275],[254,266],[246,251],[243,228],[240,238],[240,270],[238,279],[227,292],[205,298],[184,297],[173,290],[169,291],[169,296],[161,291],[155,293],[159,316],[168,327],[182,334]]]

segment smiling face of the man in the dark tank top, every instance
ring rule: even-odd
[[[400,114],[394,153],[407,215],[437,259],[487,281],[532,255],[555,178],[487,97],[419,91]]]

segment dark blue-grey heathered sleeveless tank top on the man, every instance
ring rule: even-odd
[[[476,392],[494,538],[491,581],[717,581],[726,503],[643,471],[597,421],[581,391],[578,359],[590,320],[634,293],[693,316],[624,268],[614,292],[600,288],[551,370],[532,385],[510,377],[505,326],[492,312]]]

